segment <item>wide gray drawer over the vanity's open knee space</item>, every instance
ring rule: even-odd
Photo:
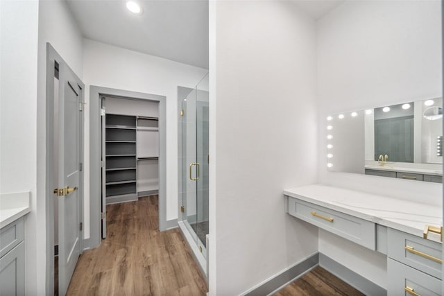
[[[295,198],[289,198],[289,214],[370,250],[376,249],[373,222]]]

